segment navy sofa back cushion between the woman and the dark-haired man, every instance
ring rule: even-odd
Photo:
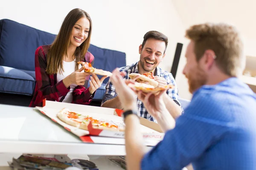
[[[124,67],[126,65],[125,53],[105,48],[99,48],[95,45],[90,45],[88,51],[94,56],[93,67],[99,68],[105,71],[112,72],[115,68]],[[102,76],[99,76],[101,78]],[[104,83],[108,82],[108,78],[104,80]]]

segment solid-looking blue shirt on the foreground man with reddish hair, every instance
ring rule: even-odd
[[[256,170],[256,94],[237,78],[204,85],[141,170]]]

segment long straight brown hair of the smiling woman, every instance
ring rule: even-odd
[[[76,57],[76,61],[82,61],[84,58],[90,46],[92,21],[87,12],[79,8],[75,8],[71,10],[65,17],[61,25],[61,29],[49,49],[47,54],[47,74],[57,74],[58,72],[62,73],[64,71],[62,64],[63,56],[67,56],[67,48],[70,45],[70,36],[73,26],[81,17],[87,17],[87,19],[90,21],[90,30],[87,39],[76,48],[74,56]],[[76,69],[78,69],[78,64],[76,65]]]

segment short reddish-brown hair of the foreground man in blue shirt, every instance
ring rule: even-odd
[[[222,23],[194,25],[186,30],[185,37],[195,42],[197,61],[211,49],[216,55],[216,65],[224,74],[237,77],[242,73],[245,66],[243,43],[233,26]]]

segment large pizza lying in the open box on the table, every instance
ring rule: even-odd
[[[76,112],[71,112],[68,108],[63,108],[57,113],[58,118],[68,125],[79,127],[80,129],[88,130],[88,125],[92,125],[98,129],[109,129],[123,131],[124,128],[119,128],[118,125],[102,120],[93,119],[90,116],[84,116]]]

